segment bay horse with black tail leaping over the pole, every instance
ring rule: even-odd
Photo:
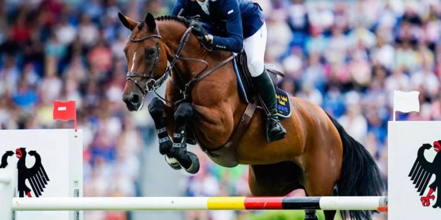
[[[191,34],[192,27],[183,17],[155,19],[148,13],[145,20],[135,22],[119,13],[119,18],[131,31],[124,48],[127,109],[140,110],[144,96],[171,77],[166,101],[154,98],[148,110],[157,129],[159,151],[173,168],[197,172],[197,157],[185,148],[186,142],[195,143],[190,137],[196,137],[215,162],[227,167],[249,165],[253,196],[285,196],[296,189],[304,189],[307,196],[384,193],[381,173],[368,151],[319,106],[296,97],[291,97],[291,117],[282,120],[288,131],[284,139],[267,142],[266,115],[257,110],[244,135],[230,146],[233,153],[211,154],[234,135],[247,108],[239,96],[231,53],[207,49]],[[315,212],[310,214],[308,210],[306,218],[317,219]],[[326,220],[333,220],[335,214],[324,211]],[[342,217],[371,219],[371,212],[343,211]]]

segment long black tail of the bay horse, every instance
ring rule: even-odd
[[[343,143],[343,161],[337,182],[338,196],[381,196],[382,175],[365,147],[351,137],[343,126],[328,114]],[[371,211],[340,211],[343,219],[370,220]]]

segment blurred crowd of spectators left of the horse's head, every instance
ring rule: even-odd
[[[128,33],[118,11],[112,0],[0,0],[0,127],[73,128],[52,120],[52,101],[75,100],[87,197],[139,196],[140,153],[151,139],[148,120],[122,102]],[[85,213],[88,220],[129,218]]]

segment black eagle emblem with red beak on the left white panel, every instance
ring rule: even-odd
[[[17,190],[19,192],[19,197],[32,197],[29,187],[26,186],[25,180],[29,181],[29,184],[34,192],[35,197],[40,197],[46,185],[48,185],[49,177],[41,163],[41,156],[36,151],[29,151],[26,153],[25,148],[19,148],[15,150],[15,154],[19,161],[17,162],[18,170],[18,182]],[[35,157],[35,163],[31,168],[26,167],[26,154]],[[14,152],[7,151],[1,157],[0,168],[5,168],[8,165],[8,157],[14,155]]]

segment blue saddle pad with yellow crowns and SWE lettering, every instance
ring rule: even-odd
[[[245,75],[239,70],[237,66],[237,60],[233,59],[234,72],[236,73],[237,84],[239,93],[243,101],[248,104],[251,97],[254,95],[250,85],[248,85]],[[277,98],[277,114],[280,119],[291,117],[291,98],[290,94],[280,88],[275,88]],[[257,105],[258,109],[263,110],[260,104]]]

